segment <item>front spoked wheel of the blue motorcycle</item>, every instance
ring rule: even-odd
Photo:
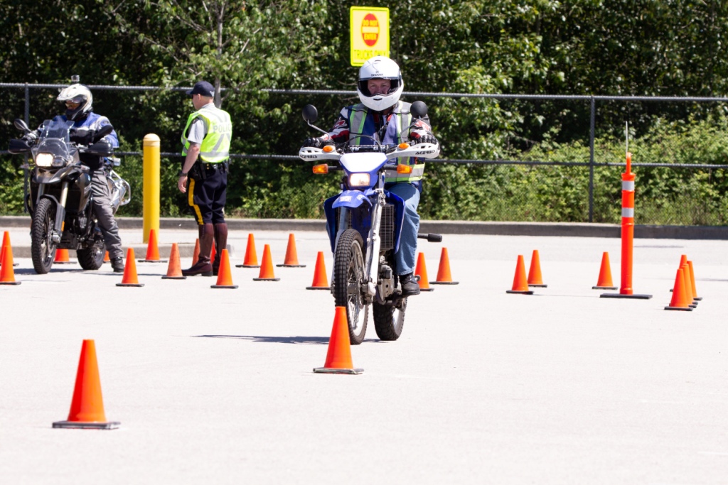
[[[336,306],[347,308],[349,342],[364,340],[369,305],[364,300],[365,275],[362,238],[354,229],[341,233],[336,244],[333,266],[333,298]]]

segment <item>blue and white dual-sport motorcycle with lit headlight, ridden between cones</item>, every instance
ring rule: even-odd
[[[414,119],[427,114],[427,105],[416,101],[411,106]],[[304,120],[315,127],[316,108],[306,105]],[[349,340],[360,344],[366,333],[369,306],[374,328],[381,340],[397,340],[402,333],[407,297],[395,275],[394,254],[400,244],[404,217],[404,201],[384,190],[384,172],[397,170],[403,177],[411,171],[407,164],[395,159],[417,157],[433,159],[440,146],[432,143],[381,145],[373,137],[373,145],[356,145],[356,138],[323,148],[304,147],[298,156],[310,161],[336,161],[336,165],[313,167],[316,174],[342,171],[341,193],[324,202],[326,230],[334,256],[331,292],[336,306],[347,308]],[[442,241],[439,234],[418,234],[420,239]]]

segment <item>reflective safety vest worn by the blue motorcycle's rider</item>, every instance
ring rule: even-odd
[[[406,142],[409,137],[408,129],[412,122],[412,115],[409,112],[410,106],[410,103],[399,101],[392,112],[392,118],[389,122],[395,123],[395,143]],[[368,135],[367,133],[363,133],[368,112],[368,108],[365,105],[358,104],[352,106],[352,111],[349,113],[349,140],[354,145],[360,145],[363,140],[358,135]],[[417,180],[422,180],[424,163],[417,163],[417,159],[410,157],[397,160],[399,164],[412,165],[412,172],[409,174],[398,174],[397,170],[388,169],[384,171],[384,183],[416,182]]]

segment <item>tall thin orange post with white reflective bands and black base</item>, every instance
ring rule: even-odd
[[[649,300],[652,294],[632,291],[632,248],[635,234],[635,174],[632,173],[632,153],[627,152],[627,167],[622,174],[622,281],[619,293],[604,293],[604,298],[640,298]]]

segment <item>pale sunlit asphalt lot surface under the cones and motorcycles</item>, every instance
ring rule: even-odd
[[[27,228],[9,227],[13,246]],[[293,231],[305,268],[280,281],[236,268],[251,231],[230,233],[237,289],[143,287],[109,265],[37,275],[15,257],[0,286],[0,477],[7,484],[726,484],[726,241],[636,239],[633,289],[600,298],[601,256],[620,285],[620,239],[446,234],[420,241],[434,280],[448,249],[459,284],[411,297],[403,334],[370,321],[360,375],[314,374],[333,324],[312,284],[322,230]],[[254,231],[274,264],[291,231]],[[144,254],[141,230],[122,229]],[[159,244],[194,247],[189,228]],[[518,254],[539,251],[546,288],[507,294]],[[667,311],[681,254],[703,300]],[[71,254],[71,260],[75,260]],[[189,255],[182,266],[190,264]],[[52,429],[68,416],[82,340],[95,340],[103,404],[118,430]]]

